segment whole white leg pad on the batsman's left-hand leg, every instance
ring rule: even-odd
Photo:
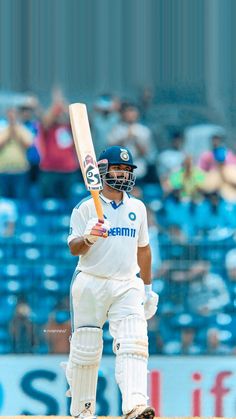
[[[102,329],[81,327],[72,334],[66,377],[70,385],[72,416],[95,413],[98,368],[102,356]]]

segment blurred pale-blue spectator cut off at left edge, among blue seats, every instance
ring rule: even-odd
[[[17,208],[14,201],[0,198],[0,237],[12,237],[17,221]]]

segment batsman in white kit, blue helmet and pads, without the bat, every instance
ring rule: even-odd
[[[74,208],[68,237],[72,255],[79,256],[71,284],[72,336],[66,366],[70,413],[96,418],[102,327],[108,319],[124,417],[152,419],[155,412],[147,403],[147,319],[157,310],[158,295],[151,285],[146,208],[129,194],[136,166],[127,148],[107,148],[98,164],[105,221],[96,218],[88,197]]]

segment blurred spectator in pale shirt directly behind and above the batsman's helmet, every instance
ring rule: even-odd
[[[155,150],[152,146],[151,131],[139,122],[139,111],[133,103],[123,103],[121,106],[121,121],[111,130],[109,145],[128,147],[134,157],[138,169],[137,184],[143,181],[154,182],[153,171],[150,172]]]

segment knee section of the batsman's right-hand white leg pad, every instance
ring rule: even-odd
[[[121,320],[117,337],[113,342],[116,355],[131,354],[148,357],[147,322],[138,316],[128,316]]]

